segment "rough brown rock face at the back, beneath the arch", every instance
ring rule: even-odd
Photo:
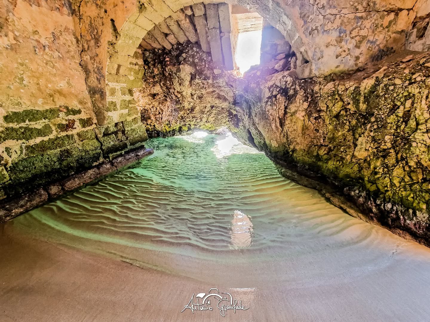
[[[233,88],[199,46],[178,44],[172,51],[144,51],[143,86],[134,98],[150,136],[170,136],[191,128],[215,130],[235,114]]]

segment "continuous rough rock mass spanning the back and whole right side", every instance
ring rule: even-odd
[[[228,123],[278,164],[331,186],[370,221],[429,239],[430,54],[304,80],[295,70],[216,75],[196,46],[143,55],[146,85],[135,98],[153,136]]]

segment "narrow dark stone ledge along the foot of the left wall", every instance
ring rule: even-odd
[[[46,202],[60,197],[65,192],[70,193],[86,184],[95,182],[153,153],[153,149],[146,149],[145,147],[134,149],[124,155],[114,158],[111,162],[99,164],[89,170],[74,174],[60,182],[38,188],[15,200],[0,203],[0,222],[6,222],[28,210],[40,207]]]

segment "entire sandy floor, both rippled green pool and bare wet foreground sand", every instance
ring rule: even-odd
[[[430,321],[430,249],[230,135],[147,146],[134,168],[0,226],[0,321]],[[184,310],[211,288],[249,309]]]

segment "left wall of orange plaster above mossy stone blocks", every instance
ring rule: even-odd
[[[78,14],[69,1],[16,0],[0,6],[3,202],[106,164],[147,139],[137,110],[119,122],[97,125],[81,57],[85,39],[76,32]],[[86,31],[88,37],[91,33]],[[118,95],[134,103],[128,91]],[[46,199],[46,191],[41,197]],[[5,207],[0,205],[0,221],[10,215]]]

